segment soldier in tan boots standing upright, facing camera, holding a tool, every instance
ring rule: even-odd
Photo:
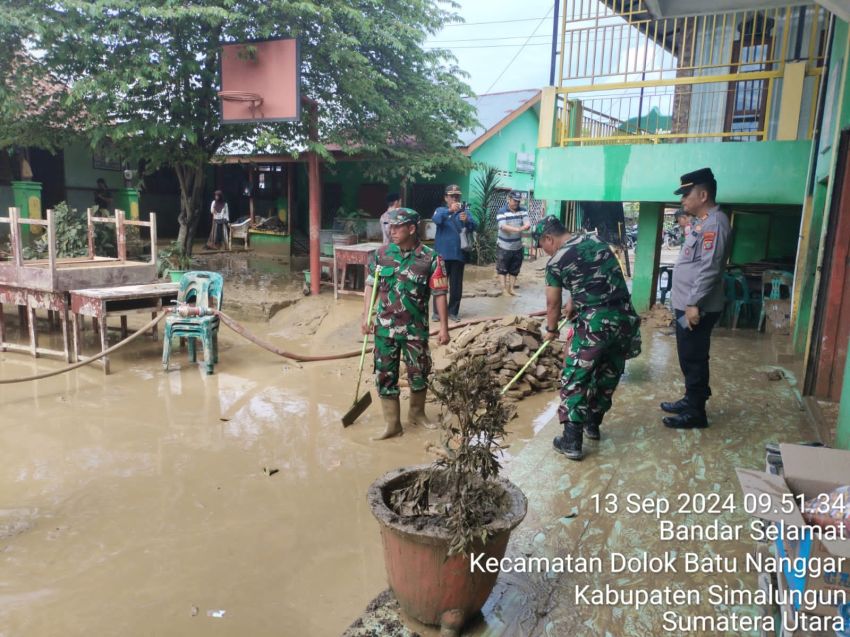
[[[387,220],[392,242],[378,248],[368,266],[361,327],[363,334],[371,329],[368,321],[369,302],[377,278],[375,372],[386,430],[375,440],[402,433],[398,397],[398,371],[402,357],[410,385],[410,424],[434,427],[425,415],[425,394],[431,371],[428,302],[432,294],[440,317],[438,342],[440,345],[449,342],[446,305],[448,280],[443,259],[419,241],[419,214],[415,210],[396,208],[387,213]]]

